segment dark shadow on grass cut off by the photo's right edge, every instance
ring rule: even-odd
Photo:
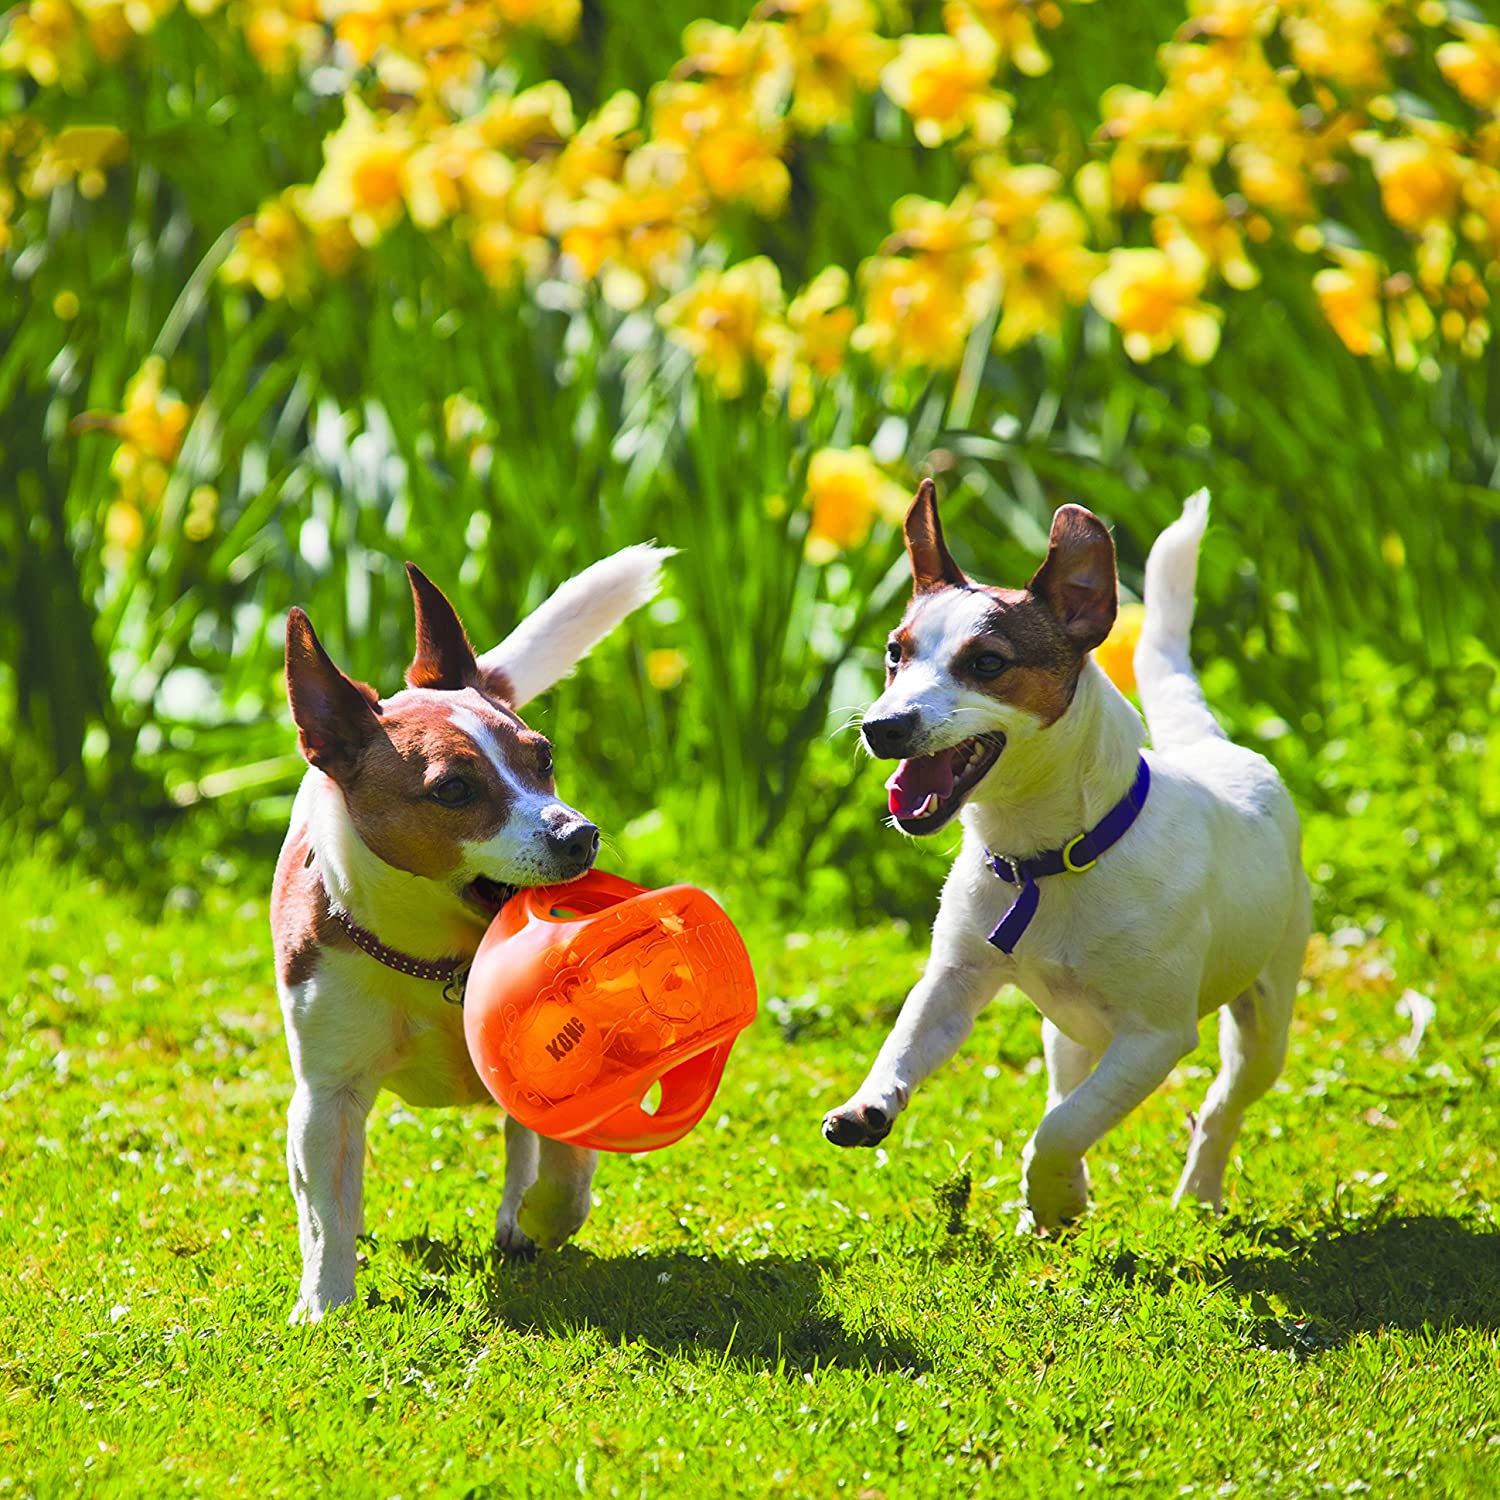
[[[1454,1218],[1324,1228],[1287,1251],[1232,1256],[1222,1270],[1252,1310],[1257,1294],[1287,1306],[1290,1326],[1268,1322],[1290,1346],[1298,1330],[1336,1347],[1382,1328],[1500,1329],[1500,1233]]]

